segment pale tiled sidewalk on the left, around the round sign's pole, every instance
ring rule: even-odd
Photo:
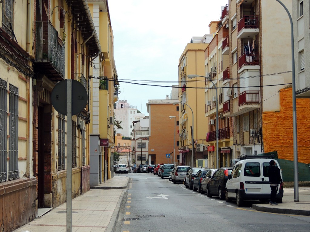
[[[118,220],[128,176],[116,176],[72,199],[72,232],[112,232]],[[66,232],[66,203],[14,232]]]

